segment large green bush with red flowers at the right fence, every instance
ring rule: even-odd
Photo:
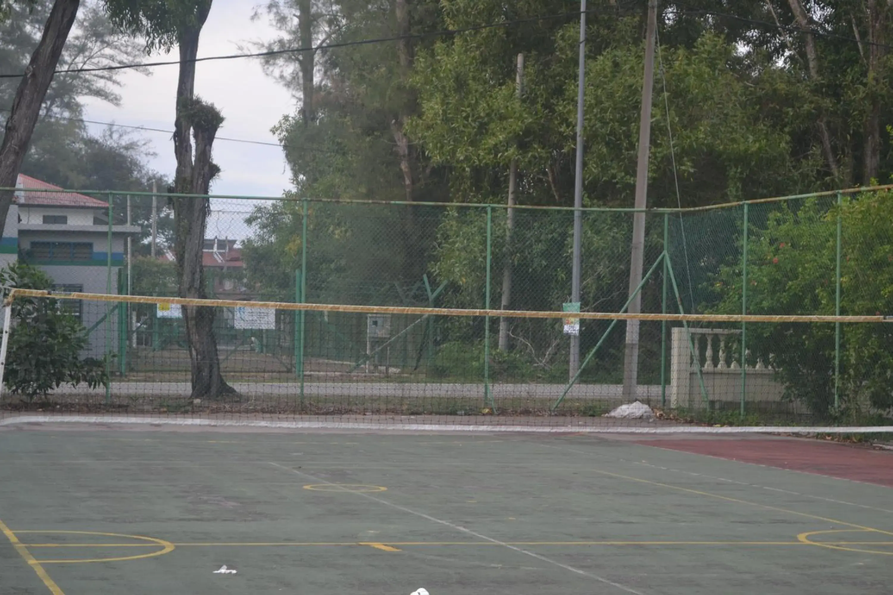
[[[836,298],[837,221],[843,230],[840,313],[893,311],[893,194],[862,194],[840,207],[814,199],[782,205],[749,232],[750,314],[832,315]],[[720,313],[741,310],[740,264],[714,278]],[[761,359],[819,417],[864,415],[893,407],[893,332],[888,325],[841,325],[840,409],[834,409],[835,326],[763,323],[747,326],[751,364]]]

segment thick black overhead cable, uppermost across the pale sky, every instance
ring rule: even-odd
[[[588,11],[590,12],[590,11]],[[591,11],[594,12],[594,11]],[[542,16],[530,17],[527,19],[513,19],[512,21],[501,21],[501,22],[493,22],[487,23],[485,25],[475,25],[473,27],[465,27],[463,29],[441,29],[439,31],[430,31],[429,33],[413,33],[410,35],[397,35],[394,37],[375,37],[372,39],[360,39],[357,41],[345,41],[334,44],[321,44],[321,45],[312,45],[311,47],[292,47],[285,48],[281,50],[268,50],[266,52],[255,52],[255,53],[246,53],[246,54],[225,54],[225,55],[216,55],[216,56],[205,56],[204,58],[194,58],[187,62],[209,62],[215,60],[235,60],[237,58],[265,58],[269,56],[282,55],[282,54],[301,54],[303,52],[316,52],[319,50],[329,50],[335,49],[338,47],[351,47],[354,45],[371,45],[371,44],[380,44],[389,41],[400,41],[402,39],[420,39],[424,37],[446,37],[449,35],[456,35],[458,33],[469,33],[471,31],[480,31],[484,29],[495,29],[499,27],[509,27],[511,25],[519,25],[527,22],[537,22],[537,21],[551,21],[555,19],[565,19],[569,17],[577,17],[580,15],[580,12],[561,12],[558,14],[547,14]],[[162,62],[141,62],[141,63],[132,63],[132,64],[116,64],[114,66],[97,66],[94,68],[79,68],[72,70],[55,70],[54,74],[80,74],[84,72],[100,72],[100,71],[108,71],[108,70],[129,70],[134,68],[151,68],[154,66],[176,66],[179,65],[179,60],[168,60]],[[24,73],[17,74],[0,74],[0,79],[21,79],[21,77],[25,76]]]

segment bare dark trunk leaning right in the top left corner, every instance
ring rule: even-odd
[[[46,19],[44,33],[34,54],[31,54],[31,61],[19,82],[9,119],[6,120],[3,144],[0,145],[0,188],[12,188],[18,180],[21,162],[28,153],[31,134],[38,123],[40,105],[53,82],[56,64],[78,16],[79,5],[80,0],[55,0],[53,10]],[[3,229],[13,194],[0,192],[0,229]]]

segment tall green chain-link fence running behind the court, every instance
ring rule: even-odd
[[[64,211],[46,194],[21,194],[13,230],[18,258],[63,291],[176,296],[169,204],[206,200],[207,298],[553,312],[571,302],[572,209],[104,193]],[[893,313],[891,207],[891,194],[880,190],[647,211],[641,311]],[[624,311],[636,216],[582,210],[581,310]],[[7,223],[4,246],[12,236]],[[16,256],[7,252],[7,260]],[[188,380],[177,308],[121,303],[85,312],[65,303],[86,329],[88,352],[115,354],[110,371],[118,381]],[[214,325],[224,374],[302,385],[381,374],[389,381],[480,384],[485,400],[494,384],[547,386],[562,397],[572,384],[599,385],[616,402],[631,365],[625,323],[616,320],[579,326],[584,366],[570,383],[572,320],[277,310],[252,323],[229,309]],[[764,370],[780,387],[777,401],[792,410],[808,403],[825,415],[855,403],[872,410],[893,404],[887,325],[701,324],[687,326],[685,340],[677,328],[641,322],[639,400],[671,407],[672,376],[682,366],[737,370],[735,388],[723,389],[729,394],[722,399],[711,397],[698,372],[698,404],[711,409],[757,408],[747,376],[763,378]],[[238,370],[231,368],[237,360]]]

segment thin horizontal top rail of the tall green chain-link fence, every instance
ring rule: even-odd
[[[804,198],[819,198],[822,196],[836,196],[837,194],[859,194],[863,192],[881,192],[893,190],[893,184],[881,186],[858,186],[855,188],[841,188],[839,190],[828,190],[825,192],[815,192],[808,194],[790,194],[788,196],[774,196],[771,198],[757,198],[747,201],[723,202],[721,204],[711,204],[701,207],[685,207],[677,209],[665,208],[620,208],[620,207],[580,207],[580,211],[584,212],[622,212],[635,213],[647,212],[656,214],[673,214],[687,213],[699,211],[716,211],[720,209],[730,209],[744,204],[763,204],[767,202],[785,202]],[[284,202],[320,202],[328,204],[376,204],[390,206],[411,206],[411,207],[454,207],[468,209],[508,209],[508,205],[502,203],[488,202],[415,202],[415,201],[371,201],[371,200],[341,200],[337,198],[313,198],[299,197],[283,194],[281,196],[251,196],[238,194],[181,194],[181,193],[162,193],[162,192],[129,192],[118,190],[69,190],[60,188],[0,188],[3,192],[22,192],[22,193],[65,193],[65,194],[87,194],[87,195],[104,195],[104,196],[159,196],[163,198],[196,198],[196,199],[221,199],[221,200],[243,200],[243,201],[284,201]],[[547,205],[513,205],[513,209],[522,211],[576,211],[575,207],[547,206]]]

